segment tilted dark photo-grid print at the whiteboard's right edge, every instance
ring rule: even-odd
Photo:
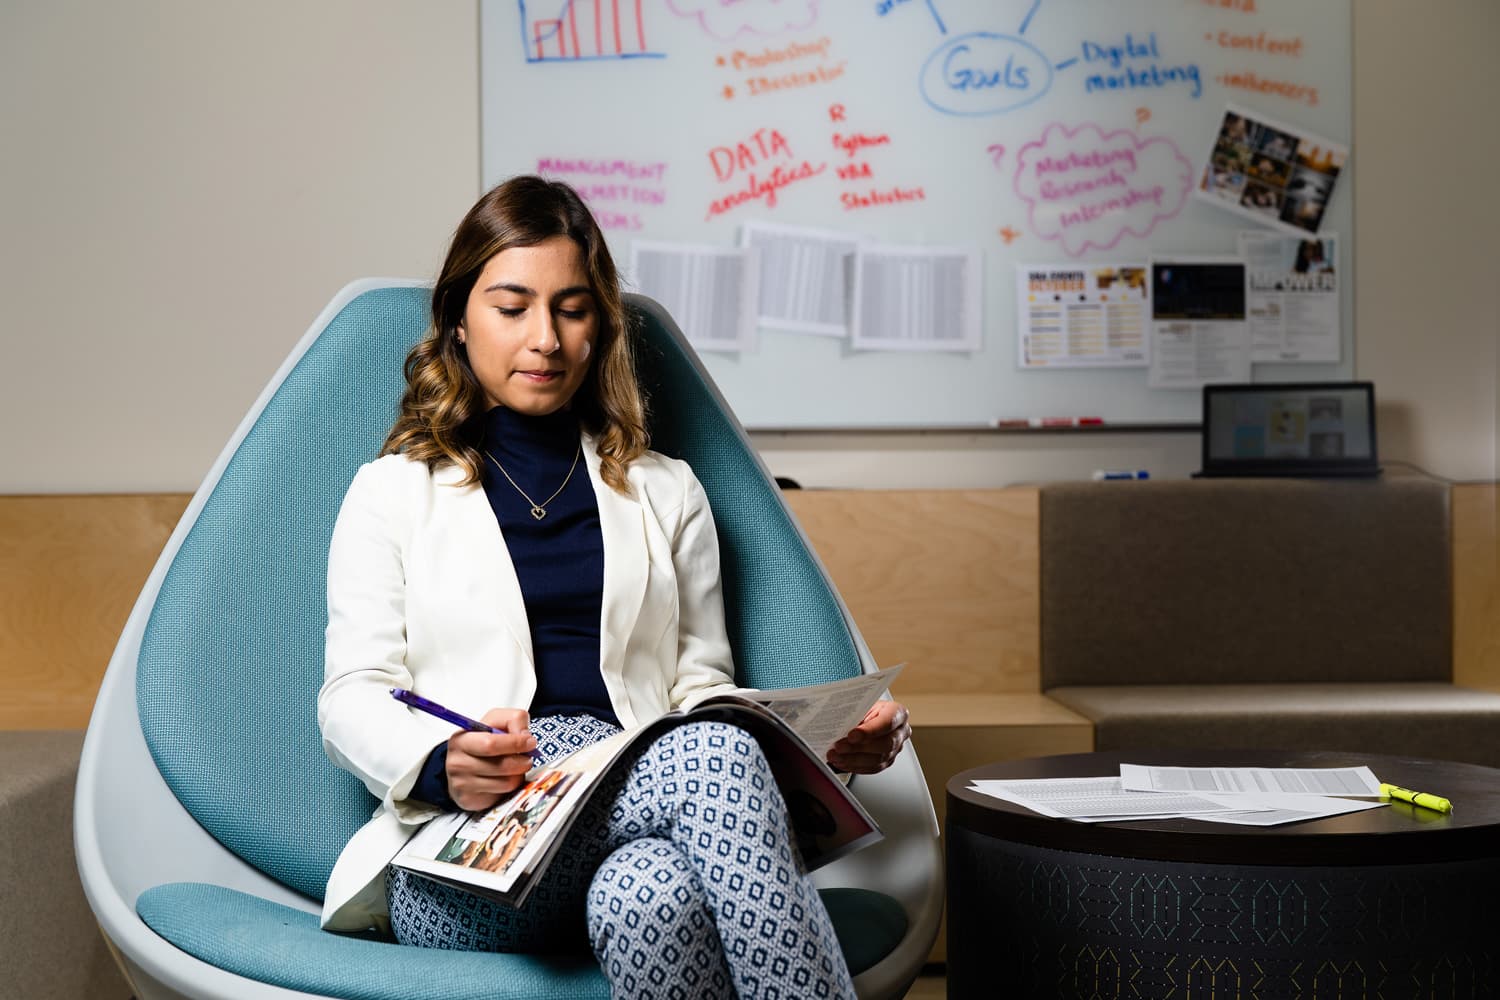
[[[1348,147],[1228,105],[1192,193],[1262,225],[1306,235],[1323,225]]]

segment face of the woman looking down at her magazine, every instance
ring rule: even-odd
[[[597,337],[598,304],[584,252],[562,235],[489,258],[459,324],[489,405],[531,417],[573,399]]]

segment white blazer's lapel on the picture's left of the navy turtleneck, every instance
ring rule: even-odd
[[[489,507],[484,487],[458,486],[464,474],[456,466],[442,466],[434,472],[438,495],[447,495],[448,522],[444,525],[444,538],[453,546],[448,553],[448,565],[468,567],[458,579],[466,579],[466,592],[454,594],[454,600],[476,607],[474,621],[494,621],[490,615],[500,615],[506,622],[506,631],[520,648],[526,664],[536,670],[537,661],[531,651],[531,622],[526,621],[526,601],[520,595],[520,580],[516,579],[516,564],[510,559],[510,550],[495,523],[495,511]]]

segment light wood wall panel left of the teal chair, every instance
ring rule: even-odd
[[[188,496],[0,496],[0,730],[82,729]]]

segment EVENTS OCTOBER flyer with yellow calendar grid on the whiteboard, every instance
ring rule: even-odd
[[[1016,283],[1020,367],[1148,364],[1143,262],[1018,264]]]

